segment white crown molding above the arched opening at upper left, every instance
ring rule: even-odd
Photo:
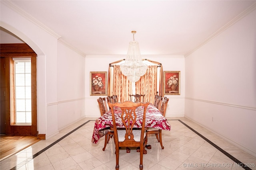
[[[37,25],[38,27],[40,27],[41,29],[43,29],[44,31],[46,31],[47,33],[49,33],[50,35],[54,36],[55,38],[59,39],[61,36],[58,35],[57,33],[55,33],[54,31],[52,31],[50,28],[46,27],[46,25],[44,25],[43,23],[41,23],[40,21],[36,20],[36,18],[34,18],[33,16],[31,16],[30,14],[28,14],[27,12],[25,12],[23,9],[21,9],[19,6],[17,6],[16,4],[14,4],[12,1],[10,0],[1,0],[1,3],[8,6],[10,9],[12,9],[14,12],[17,12],[18,14],[20,14],[21,16],[23,16],[24,18],[28,19],[29,21],[31,21],[32,23],[34,23],[35,25]]]

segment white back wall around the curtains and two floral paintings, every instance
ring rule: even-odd
[[[86,82],[86,117],[100,117],[97,98],[106,96],[90,96],[90,72],[106,71],[108,74],[109,63],[125,59],[126,56],[86,56],[85,57],[85,82]],[[164,71],[180,71],[180,95],[166,95],[169,102],[166,109],[166,117],[184,116],[184,89],[185,89],[185,70],[183,56],[146,56],[142,59],[150,59],[162,63]],[[96,63],[96,66],[95,66]]]

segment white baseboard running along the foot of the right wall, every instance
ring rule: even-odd
[[[244,150],[245,152],[251,154],[252,156],[256,157],[256,152],[254,152],[253,150],[248,149],[247,147],[245,147],[245,146],[243,146],[243,145],[240,145],[239,143],[233,141],[232,139],[229,139],[228,137],[225,137],[224,135],[218,133],[217,131],[215,131],[215,130],[209,128],[209,127],[206,127],[205,125],[202,125],[201,123],[199,123],[199,122],[197,122],[197,121],[194,121],[194,120],[191,119],[190,117],[187,117],[187,116],[184,116],[184,117],[188,118],[189,120],[193,121],[194,123],[197,123],[198,125],[204,127],[204,128],[207,129],[208,131],[214,133],[215,135],[218,135],[219,137],[221,137],[221,138],[225,139],[226,141],[232,143],[232,144],[235,145],[236,147],[238,147],[238,148]],[[209,140],[210,140],[210,139],[209,139]]]

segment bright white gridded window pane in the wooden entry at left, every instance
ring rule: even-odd
[[[15,123],[31,124],[31,59],[14,58]]]

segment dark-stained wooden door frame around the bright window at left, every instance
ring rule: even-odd
[[[36,53],[26,43],[10,43],[0,45],[0,57],[31,57],[31,125],[11,125],[10,101],[5,104],[6,135],[37,135],[37,90],[36,90]],[[6,61],[6,59],[5,59]],[[9,66],[8,66],[9,68]],[[7,72],[7,71],[6,71]],[[9,72],[6,74],[10,75]],[[5,79],[6,92],[10,98],[10,78]],[[9,90],[8,90],[9,89]],[[1,95],[2,97],[2,95]],[[2,109],[1,109],[2,111]]]

